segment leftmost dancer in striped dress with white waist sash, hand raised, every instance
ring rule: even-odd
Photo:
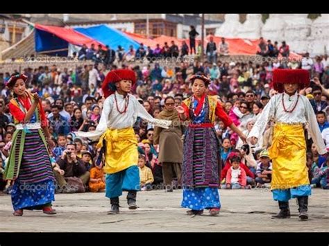
[[[51,147],[54,144],[40,98],[26,91],[26,80],[24,74],[13,73],[6,83],[14,94],[9,109],[17,130],[12,137],[4,178],[15,180],[11,194],[14,216],[22,216],[24,209],[55,214],[51,207],[55,200],[54,176],[47,143]]]

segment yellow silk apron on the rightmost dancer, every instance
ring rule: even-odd
[[[274,125],[269,157],[272,159],[271,190],[310,184],[302,124],[277,123]]]

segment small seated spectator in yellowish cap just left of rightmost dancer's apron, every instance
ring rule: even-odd
[[[257,187],[265,187],[264,184],[271,183],[272,163],[269,159],[269,152],[263,150],[260,152],[260,163],[257,165],[255,182]]]

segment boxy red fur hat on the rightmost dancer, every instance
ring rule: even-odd
[[[273,71],[273,87],[279,93],[285,91],[283,84],[296,83],[299,89],[310,85],[310,73],[305,69],[275,69]]]

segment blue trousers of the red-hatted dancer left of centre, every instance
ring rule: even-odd
[[[140,191],[138,166],[130,166],[118,173],[106,175],[106,197],[119,197],[122,191]]]

